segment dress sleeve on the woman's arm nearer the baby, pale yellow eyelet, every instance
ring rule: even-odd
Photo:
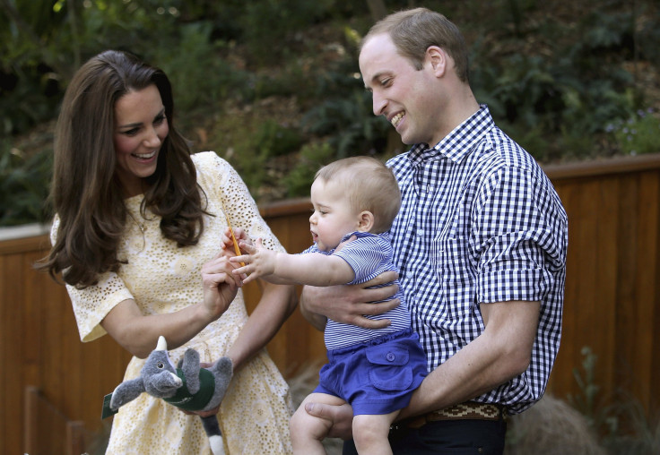
[[[193,157],[200,185],[207,197],[215,198],[219,207],[224,203],[231,226],[241,227],[252,240],[263,239],[266,248],[283,252],[284,248],[262,218],[254,198],[236,169],[213,151],[197,153]],[[222,213],[215,215],[224,216]]]

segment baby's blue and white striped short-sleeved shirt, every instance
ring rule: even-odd
[[[341,257],[344,261],[348,262],[352,267],[352,270],[355,272],[355,279],[346,284],[364,283],[387,270],[398,271],[392,263],[392,245],[390,244],[389,236],[386,233],[369,234],[369,232],[352,232],[343,236],[342,242],[348,240],[352,236],[356,236],[357,238],[343,245],[342,249],[339,251],[320,251],[315,244],[300,254],[322,253]],[[326,339],[326,348],[330,350],[346,348],[354,344],[363,343],[369,339],[381,337],[387,333],[410,329],[410,313],[408,313],[407,305],[405,305],[405,297],[401,291],[400,285],[399,291],[394,298],[401,299],[401,304],[395,309],[376,316],[365,316],[373,320],[391,320],[392,323],[385,329],[364,329],[356,325],[343,324],[328,319],[324,335]]]

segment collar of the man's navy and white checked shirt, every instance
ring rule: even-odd
[[[478,111],[465,119],[462,124],[456,126],[435,147],[429,148],[429,144],[425,143],[413,145],[408,154],[408,159],[411,160],[412,164],[419,164],[440,157],[451,159],[456,163],[460,162],[473,150],[473,145],[480,142],[483,135],[494,125],[491,111],[488,106],[482,104]]]

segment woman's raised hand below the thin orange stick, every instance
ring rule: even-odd
[[[204,309],[213,321],[227,311],[242,282],[232,273],[235,266],[224,251],[202,266]]]

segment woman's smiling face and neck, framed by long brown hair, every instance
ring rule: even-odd
[[[129,91],[115,103],[115,172],[126,197],[144,192],[143,179],[156,171],[169,125],[155,85]]]

